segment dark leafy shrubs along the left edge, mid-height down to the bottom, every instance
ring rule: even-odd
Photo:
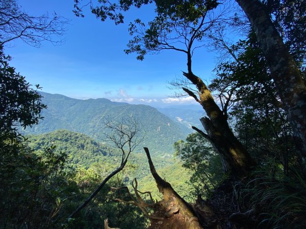
[[[1,49],[0,226],[58,227],[62,203],[75,189],[67,180],[67,155],[55,153],[54,147],[35,154],[25,146],[17,128],[37,124],[45,105],[31,84],[9,66],[9,60]]]

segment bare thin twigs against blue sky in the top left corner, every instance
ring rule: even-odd
[[[15,39],[39,47],[42,41],[54,45],[61,44],[68,19],[54,13],[31,16],[23,12],[15,0],[0,2],[0,45],[6,45]]]

